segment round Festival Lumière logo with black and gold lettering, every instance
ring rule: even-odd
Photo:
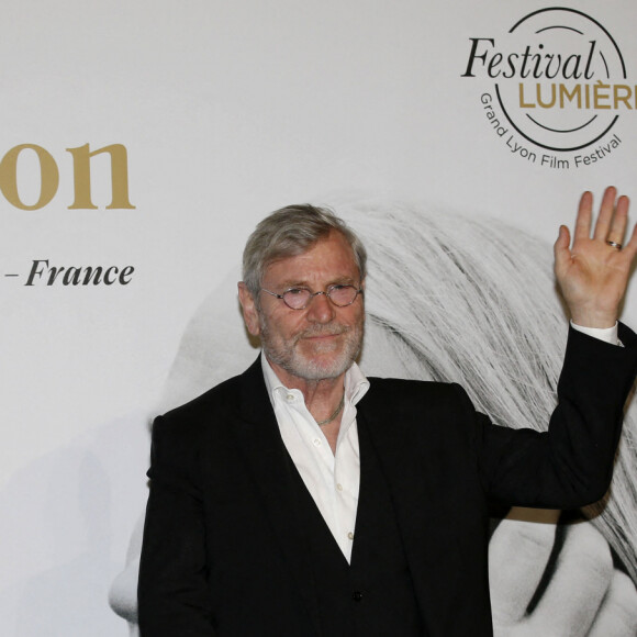
[[[540,9],[502,38],[469,43],[462,77],[493,80],[480,105],[511,153],[546,168],[573,169],[621,146],[617,124],[637,109],[637,86],[600,22],[574,9]]]

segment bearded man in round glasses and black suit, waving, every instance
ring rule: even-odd
[[[615,343],[571,333],[549,435],[454,385],[368,381],[356,236],[311,206],[261,222],[239,300],[264,355],[154,427],[142,635],[490,635],[488,501],[577,507],[610,481],[637,359],[629,331],[616,345],[637,238],[621,247],[615,197],[590,238],[584,194],[556,243],[573,323]]]

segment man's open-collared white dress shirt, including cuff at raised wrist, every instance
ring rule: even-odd
[[[589,336],[621,345],[617,325],[607,329],[571,325]],[[345,405],[333,454],[301,391],[284,387],[262,353],[261,368],[283,444],[349,562],[360,487],[356,403],[367,393],[369,381],[356,364],[345,373]]]

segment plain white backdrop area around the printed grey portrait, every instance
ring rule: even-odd
[[[496,135],[481,96],[503,78],[481,62],[462,77],[471,38],[522,51],[526,35],[509,31],[545,2],[4,4],[0,156],[35,145],[59,171],[51,201],[25,210],[55,182],[51,160],[42,175],[32,149],[0,165],[5,635],[127,634],[107,597],[146,499],[148,423],[188,321],[267,212],[381,195],[499,217],[552,242],[584,189],[599,195],[614,183],[637,197],[634,92],[630,109],[608,109],[618,114],[612,134],[558,153],[571,166],[557,169]],[[590,83],[635,91],[634,3],[571,4],[603,25],[625,62],[621,78],[606,48],[610,76],[595,62]],[[538,81],[548,90],[554,80]],[[613,134],[617,147],[574,166]],[[107,208],[103,153],[90,164],[96,209],[69,209],[78,185],[67,149],[86,144],[125,147],[134,208]],[[36,259],[134,272],[125,286],[48,286],[46,276],[26,286]],[[636,297],[624,316],[634,325]]]

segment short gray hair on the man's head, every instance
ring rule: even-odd
[[[287,205],[257,225],[244,249],[243,279],[257,303],[264,272],[272,261],[304,253],[331,232],[338,232],[346,238],[360,280],[365,279],[367,252],[342,219],[326,208],[309,203]]]

